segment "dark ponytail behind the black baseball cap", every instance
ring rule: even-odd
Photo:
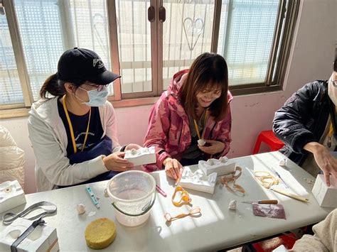
[[[43,83],[40,89],[40,96],[43,99],[50,99],[48,94],[53,95],[54,97],[62,97],[65,92],[65,82],[62,80],[58,80],[57,75],[51,75],[48,79]]]

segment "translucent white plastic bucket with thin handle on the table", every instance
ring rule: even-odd
[[[121,172],[107,184],[107,194],[117,221],[124,226],[138,226],[150,216],[156,199],[156,181],[140,170]]]

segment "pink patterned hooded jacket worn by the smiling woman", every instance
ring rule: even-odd
[[[162,169],[163,161],[167,157],[180,160],[183,152],[191,145],[188,115],[178,102],[177,97],[181,84],[187,78],[188,71],[177,72],[166,92],[161,94],[159,100],[151,108],[144,146],[155,146],[156,164],[144,165],[147,172]],[[228,91],[228,105],[231,101],[232,94]],[[225,143],[223,153],[218,153],[215,158],[226,155],[230,150],[231,124],[230,106],[228,106],[228,113],[223,120],[217,122],[213,116],[208,117],[205,126],[205,139]]]

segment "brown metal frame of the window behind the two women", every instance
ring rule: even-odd
[[[71,29],[67,25],[70,18],[70,13],[67,11],[68,4],[66,1],[60,1],[61,26],[65,28],[63,36],[65,36],[65,43],[71,44]],[[222,0],[215,0],[215,9],[213,14],[213,32],[212,43],[210,51],[217,52],[218,38],[220,29],[221,7]],[[229,0],[232,4],[232,0]],[[117,34],[117,13],[116,1],[106,0],[107,5],[107,23],[108,36],[110,45],[110,62],[112,63],[112,72],[120,75],[119,62],[119,45]],[[123,106],[141,106],[146,104],[153,104],[163,92],[163,23],[157,21],[159,19],[159,7],[163,6],[163,0],[150,0],[150,6],[155,10],[155,21],[151,22],[151,92],[133,92],[122,93],[121,80],[117,79],[113,82],[114,94],[108,97],[109,102],[115,107]],[[284,75],[287,69],[287,62],[289,61],[289,53],[291,42],[294,35],[294,28],[297,22],[299,13],[300,0],[279,1],[279,11],[277,13],[276,28],[274,31],[274,39],[272,51],[269,57],[269,65],[267,68],[267,78],[265,82],[231,85],[230,92],[233,95],[256,94],[264,92],[274,92],[282,90]],[[18,22],[16,18],[16,11],[14,1],[0,0],[0,8],[4,8],[6,12],[7,23],[9,26],[9,33],[14,50],[14,57],[18,69],[18,77],[21,82],[21,89],[23,93],[23,103],[21,104],[6,104],[0,105],[1,116],[0,119],[27,116],[28,111],[33,104],[33,95],[29,76],[27,72],[26,62],[23,55],[23,45],[21,43],[20,34],[18,31]],[[287,11],[286,11],[287,10]],[[230,21],[230,11],[228,11],[228,21]],[[282,30],[283,28],[283,30]],[[283,33],[282,33],[283,32]],[[226,31],[228,33],[228,31]],[[226,35],[228,39],[228,35]]]

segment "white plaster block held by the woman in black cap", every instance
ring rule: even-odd
[[[129,160],[135,166],[156,163],[156,153],[154,146],[149,148],[139,148],[138,150],[126,150],[124,159]]]

